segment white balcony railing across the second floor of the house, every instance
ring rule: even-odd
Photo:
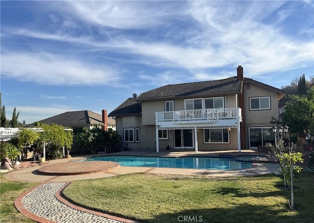
[[[241,119],[241,108],[217,108],[155,112],[156,124],[159,122],[204,123],[219,120]]]

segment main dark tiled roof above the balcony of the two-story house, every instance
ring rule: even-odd
[[[221,80],[165,85],[140,94],[136,100],[144,101],[240,94],[242,87],[243,81],[237,81],[237,77],[235,76]]]

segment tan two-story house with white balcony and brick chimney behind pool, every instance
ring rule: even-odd
[[[278,88],[237,75],[221,80],[165,85],[134,94],[108,116],[128,148],[233,150],[275,142]]]

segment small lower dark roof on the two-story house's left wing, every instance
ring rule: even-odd
[[[109,117],[141,115],[142,106],[134,98],[126,99],[116,109],[109,113]]]

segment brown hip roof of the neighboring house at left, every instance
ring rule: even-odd
[[[108,124],[112,119],[108,119]],[[113,120],[114,121],[114,120]],[[86,126],[86,125],[104,125],[102,115],[91,111],[71,111],[65,112],[48,119],[38,121],[45,124],[58,124],[62,126]],[[115,122],[115,121],[114,121]]]

